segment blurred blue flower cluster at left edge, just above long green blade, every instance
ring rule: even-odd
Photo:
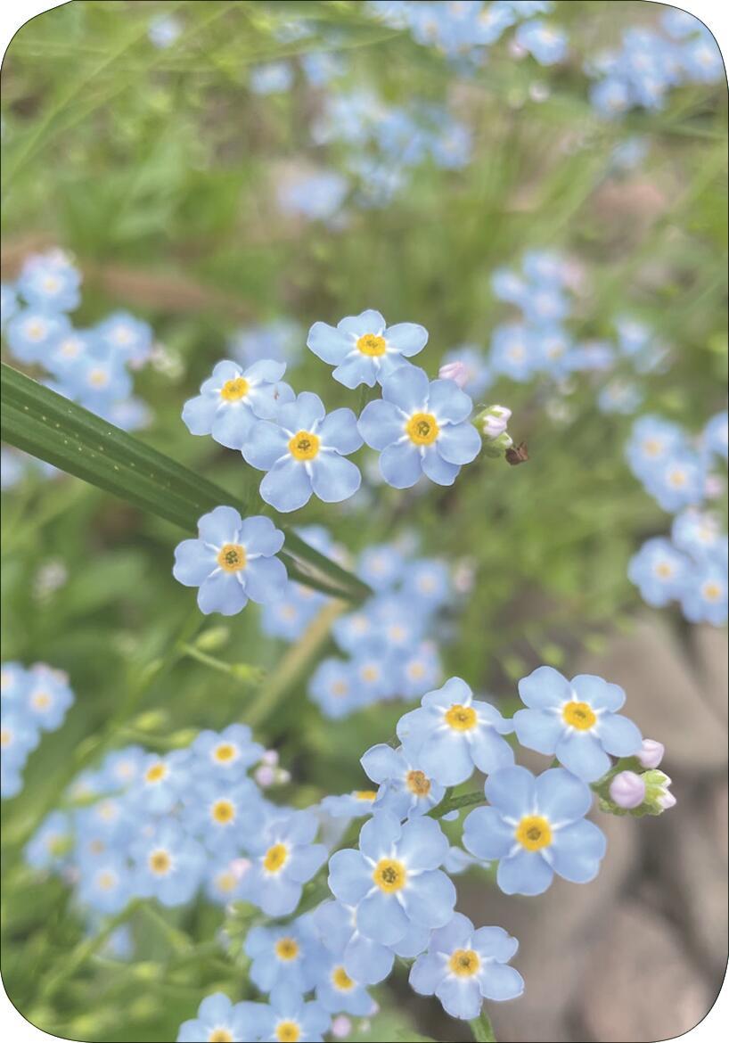
[[[135,431],[149,421],[146,404],[132,394],[132,371],[150,358],[151,329],[126,312],[75,329],[68,313],[80,302],[80,272],[60,250],[28,258],[15,287],[3,286],[2,325],[9,350],[20,362],[42,366],[54,391]]]

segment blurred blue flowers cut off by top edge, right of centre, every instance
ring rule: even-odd
[[[554,4],[549,0],[533,3],[511,0],[497,0],[495,3],[482,0],[471,3],[368,0],[367,7],[381,21],[408,29],[418,44],[434,47],[449,58],[466,57],[483,64],[487,49],[513,25],[517,25],[514,34],[516,54],[528,52],[540,65],[546,66],[561,62],[567,53],[565,33],[534,18],[552,10]]]

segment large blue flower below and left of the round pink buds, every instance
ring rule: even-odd
[[[554,874],[587,883],[600,870],[606,842],[584,816],[592,793],[563,768],[535,778],[526,768],[503,768],[486,779],[489,807],[466,817],[463,843],[479,858],[499,859],[496,882],[507,895],[539,895]]]

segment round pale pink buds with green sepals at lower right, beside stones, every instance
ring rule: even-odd
[[[643,739],[634,757],[619,761],[594,784],[600,806],[611,815],[660,815],[673,807],[676,798],[671,793],[671,779],[658,765],[663,758],[663,746],[653,738]],[[624,767],[624,763],[627,767]],[[639,771],[639,769],[646,769]]]

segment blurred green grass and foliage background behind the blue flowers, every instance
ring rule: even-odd
[[[23,26],[5,59],[6,268],[13,273],[24,253],[58,244],[84,270],[81,324],[125,307],[179,354],[179,373],[147,369],[139,378],[155,414],[145,439],[236,490],[236,455],[192,438],[179,411],[225,356],[237,325],[286,315],[306,329],[378,308],[391,321],[428,328],[420,359],[434,371],[452,346],[488,342],[507,314],[490,291],[493,269],[538,247],[584,265],[582,335],[609,337],[611,320],[629,312],[672,344],[671,370],[646,383],[647,411],[696,431],[722,408],[724,92],[685,88],[663,112],[603,123],[581,71],[581,56],[625,24],[650,19],[652,5],[559,4],[577,56],[545,72],[503,49],[462,89],[439,54],[372,23],[357,3],[271,6],[340,30],[353,81],[374,67],[386,98],[451,96],[475,128],[473,162],[459,172],[423,165],[393,204],[355,211],[336,233],[282,217],[273,202],[277,165],[321,155],[307,129],[314,102],[301,83],[256,97],[248,74],[257,62],[313,43],[276,40],[263,3],[75,0]],[[147,31],[163,9],[176,13],[183,33],[156,50]],[[551,93],[537,104],[530,87],[543,79]],[[610,180],[612,149],[630,134],[650,138],[649,159]],[[331,165],[342,147],[326,151]],[[311,355],[295,383],[321,393],[329,408],[354,404]],[[666,529],[623,459],[630,418],[599,413],[584,382],[569,395],[568,422],[553,422],[549,396],[539,384],[489,391],[513,410],[514,436],[529,441],[526,466],[482,458],[453,489],[405,500],[384,488],[364,518],[314,501],[296,519],[327,526],[353,552],[414,529],[428,553],[467,562],[475,583],[452,621],[446,674],[504,697],[507,707],[514,679],[536,661],[568,671],[581,644],[599,647],[606,628],[639,604],[627,560],[639,540]],[[23,867],[18,841],[93,757],[99,736],[168,749],[187,742],[190,729],[245,720],[256,693],[180,653],[181,633],[192,639],[215,621],[199,616],[192,593],[171,578],[178,539],[171,526],[75,479],[28,477],[5,499],[3,658],[68,671],[77,698],[64,728],[30,758],[25,789],[3,817],[5,986],[27,1017],[57,1035],[169,1040],[204,994],[240,988],[242,968],[214,942],[221,914],[204,904],[139,912],[143,962],[96,955],[44,997],[82,925],[60,882]],[[65,571],[56,589],[44,588],[49,565]],[[275,672],[286,650],[262,637],[252,606],[225,626],[216,653],[223,661]],[[160,660],[165,669],[156,670]],[[332,726],[307,701],[302,681],[261,726],[292,772],[282,799],[301,805],[362,784],[359,756],[393,733],[402,711],[372,707]],[[169,926],[200,948],[188,951]],[[380,998],[383,1020],[356,1038],[416,1039],[403,1014],[388,1013],[384,991]]]

